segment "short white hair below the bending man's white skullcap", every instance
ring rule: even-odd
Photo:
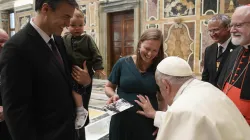
[[[185,83],[187,80],[194,78],[193,75],[191,76],[170,76],[164,73],[161,73],[160,71],[156,70],[155,72],[155,79],[157,81],[161,81],[162,79],[167,80],[173,85],[182,85]]]

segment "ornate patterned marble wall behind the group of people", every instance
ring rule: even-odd
[[[213,43],[207,32],[206,20],[218,13],[232,15],[235,7],[250,2],[249,0],[78,0],[78,3],[85,14],[84,30],[96,41],[104,56],[105,65],[109,63],[107,13],[134,9],[135,41],[148,28],[162,30],[165,54],[184,58],[195,74],[200,75],[205,48]],[[15,13],[16,31],[25,26],[35,14],[32,9]],[[8,14],[1,14],[0,25],[8,30],[6,16]]]

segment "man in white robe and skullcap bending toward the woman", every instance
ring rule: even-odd
[[[193,77],[189,64],[167,57],[156,70],[163,111],[138,95],[139,114],[154,118],[157,140],[250,140],[250,127],[234,103],[219,89]],[[167,107],[168,106],[168,107]]]

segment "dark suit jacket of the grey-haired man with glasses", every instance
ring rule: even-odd
[[[236,46],[233,45],[232,42],[230,41],[227,46],[227,49],[223,52],[223,58],[220,62],[218,71],[216,71],[218,45],[217,43],[214,43],[211,46],[208,46],[205,50],[202,81],[206,81],[217,86],[218,76],[220,75],[220,72],[224,67],[225,62],[227,61],[228,55],[230,54],[230,50],[235,48]]]

